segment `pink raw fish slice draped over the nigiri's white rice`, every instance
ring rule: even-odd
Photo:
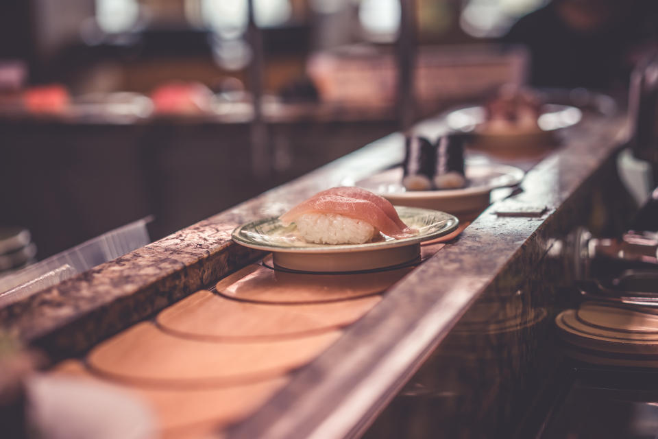
[[[280,220],[284,225],[290,224],[306,213],[337,214],[360,219],[371,224],[385,235],[395,238],[407,237],[413,234],[413,230],[410,228],[400,227],[395,224],[393,219],[374,202],[332,194],[319,195],[297,204],[293,209],[281,215]]]

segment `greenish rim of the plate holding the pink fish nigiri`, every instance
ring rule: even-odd
[[[231,239],[241,246],[254,248],[256,250],[265,250],[267,252],[282,252],[282,253],[305,253],[305,254],[328,254],[328,253],[346,253],[346,252],[367,252],[367,251],[377,251],[377,250],[387,250],[389,248],[402,247],[402,246],[411,246],[413,244],[419,244],[423,241],[430,241],[432,239],[437,239],[438,237],[448,235],[449,233],[454,232],[459,228],[459,218],[455,215],[452,215],[448,212],[437,211],[436,209],[424,209],[421,207],[411,207],[411,206],[393,206],[396,210],[413,210],[413,211],[423,211],[426,213],[441,213],[447,215],[448,221],[452,221],[452,225],[448,226],[443,230],[430,233],[428,235],[415,236],[402,239],[393,239],[391,241],[378,241],[378,242],[367,242],[365,244],[318,244],[313,247],[276,247],[276,246],[267,246],[260,244],[253,244],[250,241],[247,241],[240,236],[241,231],[252,224],[262,224],[264,222],[269,222],[272,220],[278,219],[278,217],[266,217],[262,219],[256,219],[251,222],[242,224],[234,228],[231,233]]]

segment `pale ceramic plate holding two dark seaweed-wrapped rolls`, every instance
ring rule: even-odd
[[[356,186],[377,193],[393,204],[460,214],[485,209],[492,189],[518,185],[525,173],[508,165],[467,162],[467,187],[436,191],[407,191],[402,186],[402,174],[402,167],[396,167],[360,180]]]

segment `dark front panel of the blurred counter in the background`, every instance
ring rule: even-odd
[[[8,145],[0,161],[4,221],[29,228],[39,259],[147,215],[154,215],[149,231],[159,239],[395,130],[393,116],[381,112],[280,105],[266,112],[270,142],[256,163],[249,148],[252,113],[240,108],[226,111],[234,119],[0,111]],[[271,174],[256,178],[252,169],[262,163]]]

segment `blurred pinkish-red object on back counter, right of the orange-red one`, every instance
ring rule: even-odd
[[[154,109],[160,114],[200,115],[210,111],[210,88],[200,82],[170,82],[151,93]]]

